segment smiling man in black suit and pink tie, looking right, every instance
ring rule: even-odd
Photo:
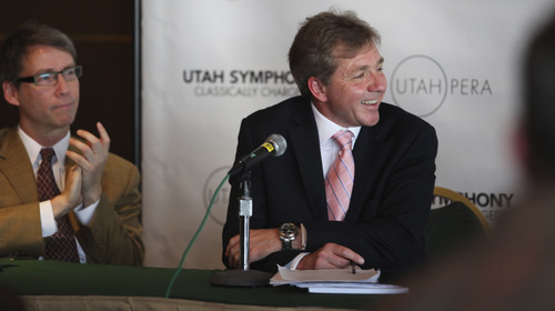
[[[437,139],[423,120],[382,102],[386,80],[379,42],[377,32],[353,12],[307,18],[289,53],[302,96],[242,121],[236,160],[272,133],[287,142],[283,156],[250,174],[251,268],[331,269],[355,262],[385,278],[423,260]],[[343,147],[333,137],[341,130],[352,137],[345,146],[354,146],[354,182],[337,189],[332,175],[340,175],[334,161]],[[223,262],[236,268],[241,175],[230,182]],[[335,195],[347,198],[340,217]]]

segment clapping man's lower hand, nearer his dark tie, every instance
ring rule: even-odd
[[[50,200],[56,219],[59,219],[81,204],[81,168],[73,165],[68,173],[65,188],[62,193]]]

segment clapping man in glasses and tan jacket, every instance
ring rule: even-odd
[[[141,265],[138,168],[109,152],[100,122],[99,137],[70,136],[81,73],[72,41],[57,29],[28,23],[6,38],[0,81],[19,124],[0,130],[0,257],[43,258],[44,240],[68,214],[80,262]],[[39,201],[39,152],[49,147],[61,193]]]

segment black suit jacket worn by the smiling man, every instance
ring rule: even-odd
[[[381,103],[380,122],[363,127],[353,154],[355,180],[343,222],[327,221],[316,123],[309,100],[301,97],[260,110],[241,123],[235,160],[268,136],[287,141],[285,153],[252,169],[251,229],[303,223],[306,251],[327,242],[351,248],[365,259],[364,269],[394,277],[424,258],[424,228],[435,182],[437,138],[432,126],[402,109]],[[232,185],[223,245],[239,232],[240,178]],[[299,251],[280,251],[251,264],[275,271]],[[228,264],[225,257],[224,264]]]

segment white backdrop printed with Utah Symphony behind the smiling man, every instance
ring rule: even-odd
[[[297,93],[290,44],[305,17],[332,6],[381,32],[384,101],[436,128],[436,184],[465,194],[492,222],[514,204],[519,60],[551,0],[143,0],[147,265],[178,265],[232,164],[241,119]],[[229,190],[184,267],[223,267]]]

